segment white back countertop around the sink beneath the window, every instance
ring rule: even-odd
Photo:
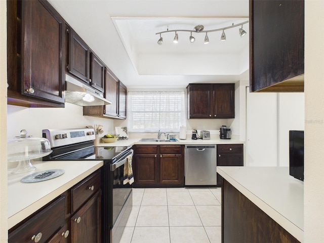
[[[150,137],[153,138],[153,137]],[[179,139],[177,138],[177,142],[140,142],[141,138],[130,138],[128,140],[117,140],[114,143],[103,143],[102,140],[100,140],[100,143],[98,146],[111,146],[111,147],[117,147],[117,146],[133,146],[133,145],[140,145],[140,144],[149,144],[149,145],[192,145],[192,144],[236,144],[241,143],[244,144],[245,141],[242,141],[239,139],[239,136],[232,135],[231,139],[220,139],[218,136],[211,136],[210,140],[203,140],[203,139],[197,139],[192,140],[190,138],[187,139]]]

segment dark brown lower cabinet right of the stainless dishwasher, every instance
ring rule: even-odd
[[[218,144],[217,166],[243,166],[243,144]],[[217,173],[217,186],[222,186],[222,177]]]

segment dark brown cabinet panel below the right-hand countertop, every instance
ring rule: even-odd
[[[222,243],[298,243],[228,181],[222,179]]]

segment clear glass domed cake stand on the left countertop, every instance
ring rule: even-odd
[[[51,144],[48,139],[33,138],[27,135],[26,130],[21,130],[20,136],[8,140],[8,162],[19,161],[17,168],[13,171],[14,174],[35,170],[30,159],[41,158],[51,152]]]

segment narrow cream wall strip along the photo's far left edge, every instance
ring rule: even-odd
[[[7,2],[0,1],[0,242],[7,242]]]

